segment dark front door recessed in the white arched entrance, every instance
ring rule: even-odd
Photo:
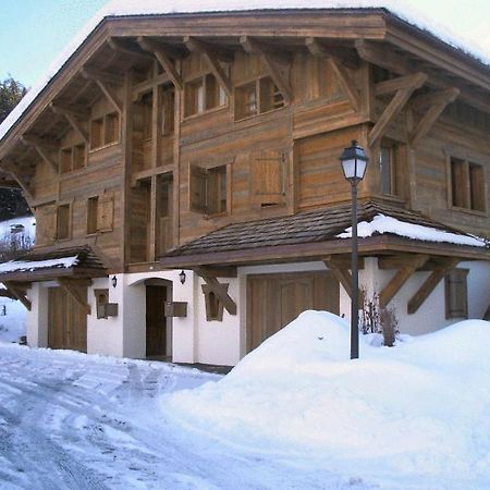
[[[146,286],[146,355],[167,355],[167,318],[164,303],[168,286]]]

